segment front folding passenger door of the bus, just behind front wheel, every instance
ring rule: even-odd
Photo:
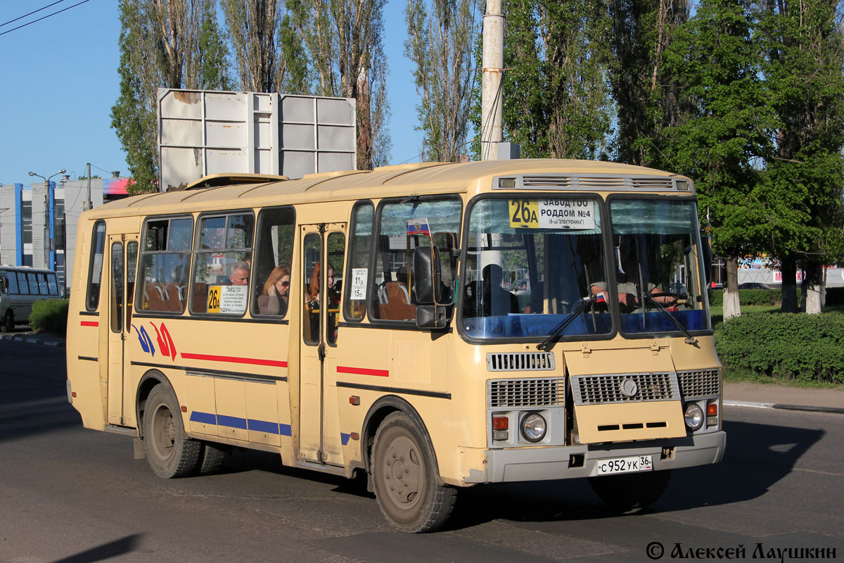
[[[341,223],[305,225],[301,231],[299,457],[311,463],[342,465],[334,343],[342,279],[345,229]]]

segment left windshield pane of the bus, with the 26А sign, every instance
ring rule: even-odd
[[[608,334],[603,220],[597,198],[489,198],[469,214],[462,326],[470,338]],[[582,306],[583,304],[589,305]]]

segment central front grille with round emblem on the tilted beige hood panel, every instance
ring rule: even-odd
[[[679,398],[677,377],[665,373],[614,373],[572,376],[575,404],[641,403]]]

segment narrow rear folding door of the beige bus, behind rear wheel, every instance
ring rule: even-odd
[[[124,399],[128,375],[126,341],[132,329],[138,235],[109,235],[108,251],[108,417],[112,425],[126,424],[133,398]]]

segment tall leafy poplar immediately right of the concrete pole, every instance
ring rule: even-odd
[[[524,157],[608,158],[609,18],[603,2],[505,0],[504,136]],[[475,131],[480,112],[473,111]],[[479,154],[479,143],[473,143]]]

